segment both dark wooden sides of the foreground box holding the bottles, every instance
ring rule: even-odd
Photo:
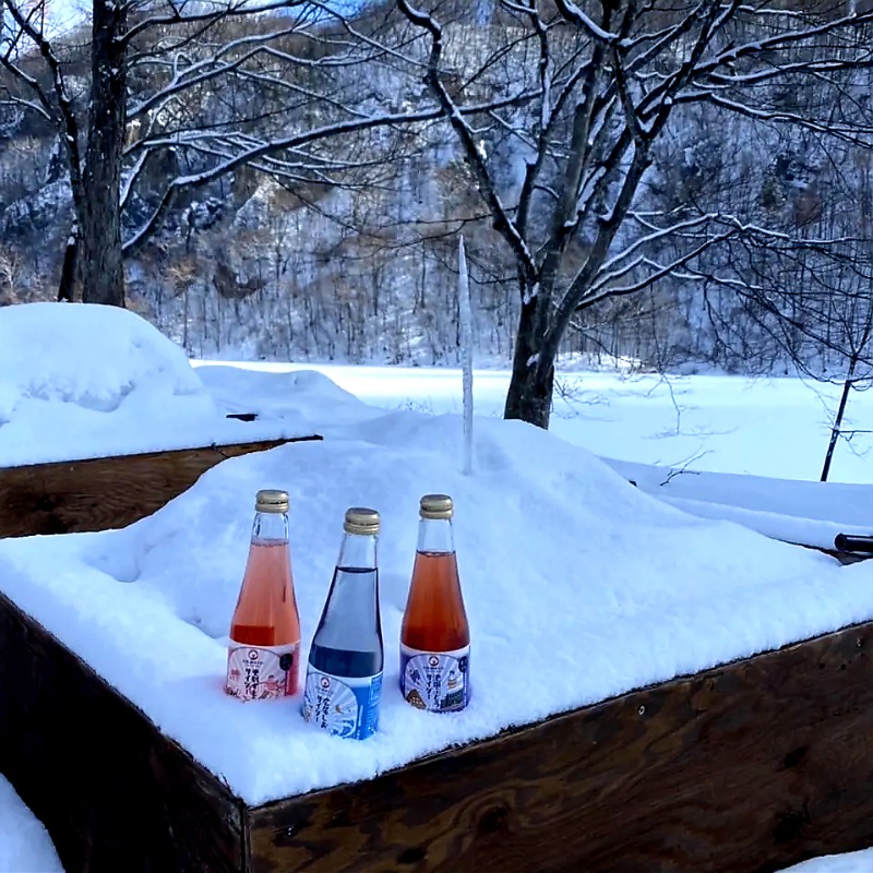
[[[0,596],[0,769],[68,873],[751,873],[873,845],[873,623],[249,805]]]

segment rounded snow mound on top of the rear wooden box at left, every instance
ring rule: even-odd
[[[0,309],[0,466],[285,435],[299,421],[228,420],[184,351],[133,312]]]

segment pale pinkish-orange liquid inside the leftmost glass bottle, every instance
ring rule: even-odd
[[[251,646],[288,646],[300,642],[300,617],[286,541],[252,541],[230,623],[230,638]]]

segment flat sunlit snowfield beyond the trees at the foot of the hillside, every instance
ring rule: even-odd
[[[360,367],[313,363],[192,361],[208,387],[214,366],[253,375],[249,395],[225,396],[228,411],[268,412],[275,403],[258,374],[316,370],[373,406],[428,412],[462,411],[459,369]],[[482,362],[478,361],[481,368]],[[220,384],[223,376],[216,376]],[[476,408],[500,416],[510,373],[476,371]],[[596,455],[690,470],[778,479],[817,480],[841,385],[800,379],[726,375],[561,372],[550,430]],[[219,388],[220,390],[220,388]],[[256,408],[249,409],[250,406]],[[873,485],[873,391],[853,392],[844,427],[858,433],[840,441],[832,482]]]

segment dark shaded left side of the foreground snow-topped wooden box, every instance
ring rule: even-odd
[[[2,595],[0,773],[67,873],[242,869],[242,804]]]

